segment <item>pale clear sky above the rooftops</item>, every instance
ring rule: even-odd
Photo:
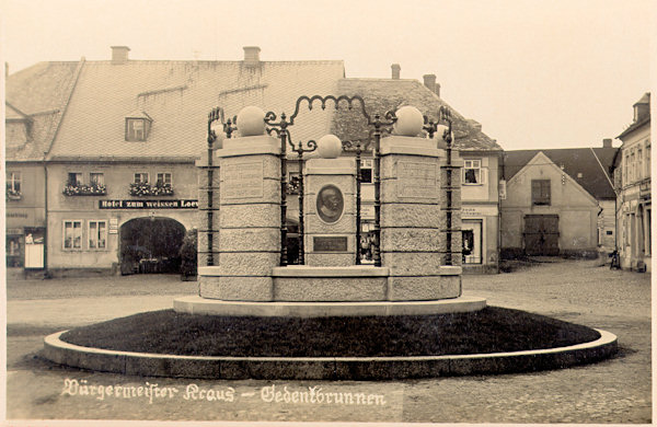
[[[505,150],[601,147],[650,91],[652,0],[0,0],[10,74],[39,61],[342,59],[348,78],[434,73]],[[655,64],[653,64],[655,66]],[[654,74],[655,72],[653,72]],[[313,94],[308,94],[313,95]],[[614,140],[614,146],[620,141]]]

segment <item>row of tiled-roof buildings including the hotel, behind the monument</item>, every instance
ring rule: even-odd
[[[204,265],[216,228],[208,211],[219,220],[204,199],[208,113],[221,106],[229,118],[255,105],[289,116],[299,96],[346,94],[361,96],[372,114],[414,105],[437,118],[447,104],[435,76],[423,84],[394,70],[391,79],[347,79],[342,61],[262,61],[253,46],[237,61],[142,61],[130,59],[128,47],[114,46],[110,60],[43,62],[9,76],[8,265],[27,267],[27,253],[41,244],[35,268],[53,275],[173,272],[182,238],[193,229]],[[300,108],[292,141],[332,132],[343,141],[367,142],[362,117],[344,114],[349,113]],[[216,150],[226,135],[219,123],[212,126]],[[471,270],[497,272],[502,148],[481,125],[454,112],[454,149],[468,165],[461,177],[468,244],[462,261]],[[296,155],[288,151],[290,183],[299,174]],[[366,249],[374,216],[372,166],[370,146],[361,161]],[[219,178],[218,173],[210,187]],[[292,241],[293,192],[292,185],[287,215]],[[364,259],[370,255],[364,251]]]

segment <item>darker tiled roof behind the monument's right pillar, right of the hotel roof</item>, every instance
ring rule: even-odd
[[[342,79],[338,93],[348,96],[360,95],[370,116],[387,111],[395,111],[403,105],[413,105],[424,115],[436,119],[440,106],[449,106],[434,92],[417,80],[401,79]],[[463,151],[500,151],[494,139],[450,107],[453,118],[454,148]],[[335,115],[333,132],[343,140],[362,139],[368,136],[365,118],[342,108]]]

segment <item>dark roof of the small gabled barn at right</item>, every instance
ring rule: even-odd
[[[512,150],[504,152],[504,176],[514,177],[539,152],[545,154],[597,199],[613,199],[615,193],[609,182],[610,169],[618,148],[566,148],[550,150]],[[599,161],[598,161],[599,160]]]

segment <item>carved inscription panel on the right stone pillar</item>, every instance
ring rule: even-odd
[[[438,165],[400,160],[396,164],[397,197],[437,198]]]

